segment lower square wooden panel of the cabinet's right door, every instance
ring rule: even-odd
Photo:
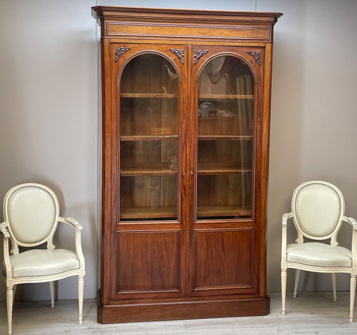
[[[194,236],[192,296],[255,292],[253,228],[195,230]]]

